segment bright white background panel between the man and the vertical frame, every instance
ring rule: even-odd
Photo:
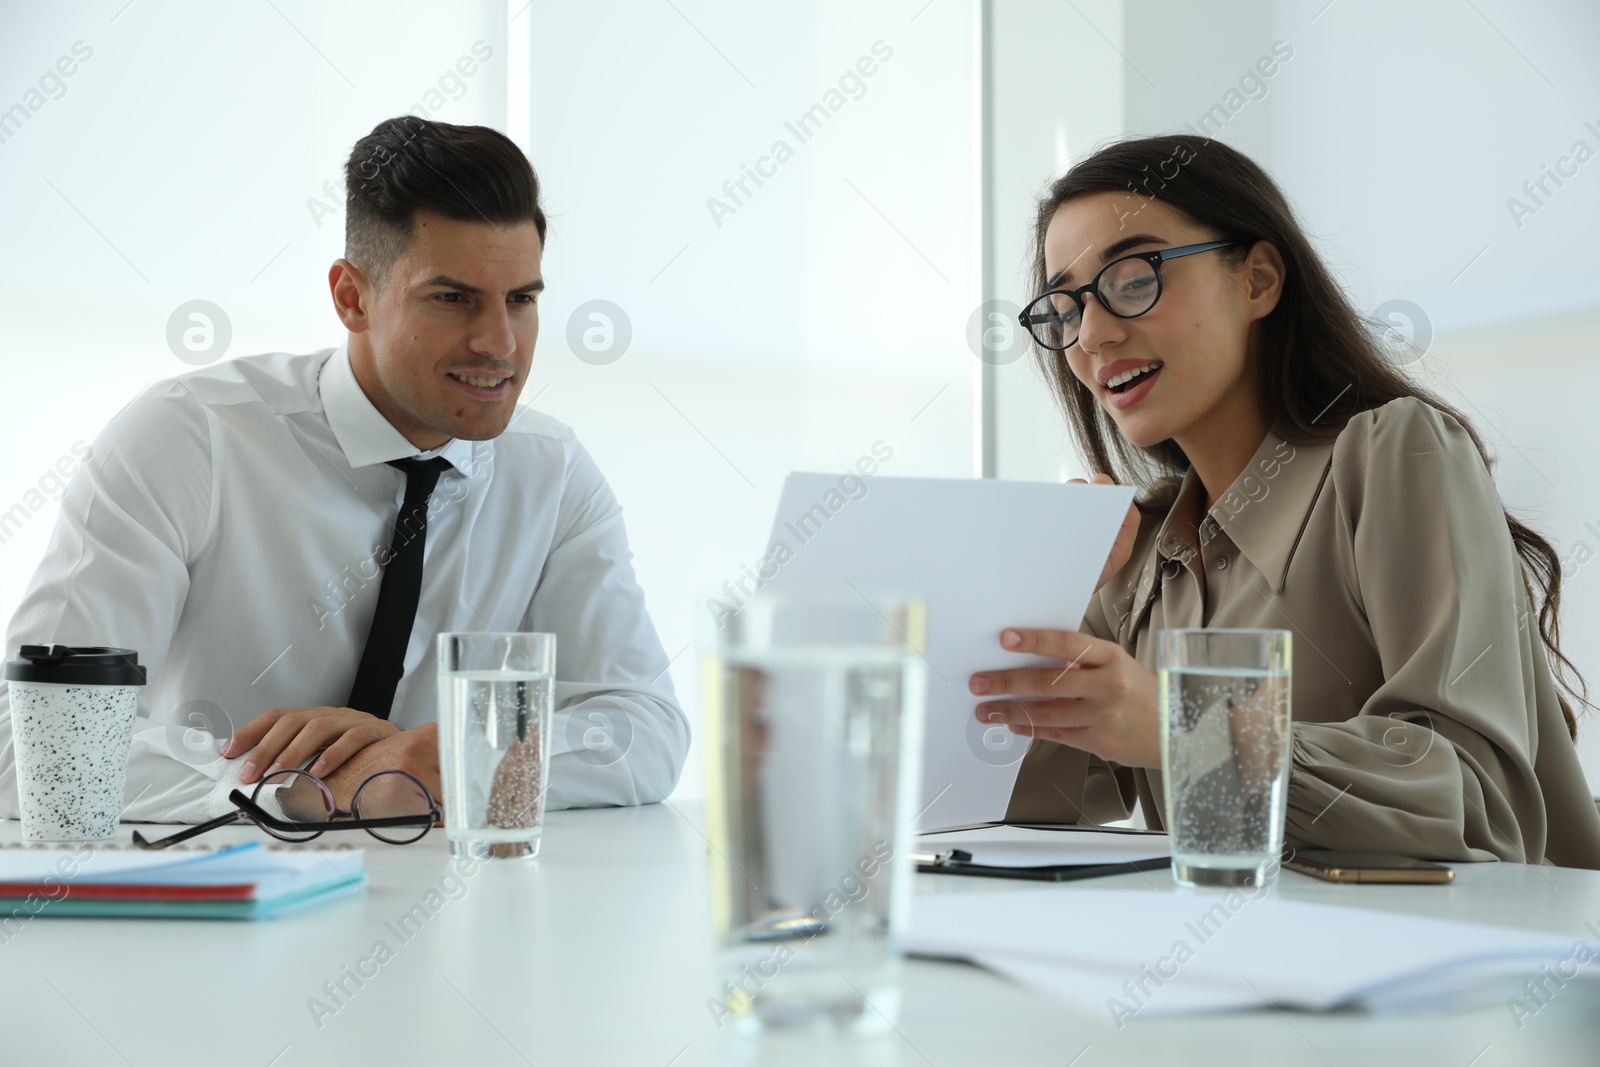
[[[789,470],[843,470],[877,440],[883,474],[973,470],[974,110],[965,5],[677,6],[533,8],[552,211],[536,376],[627,509],[698,728],[696,616],[765,552]],[[800,142],[786,122],[875,45],[864,88]],[[723,182],[779,139],[794,157],[734,205]],[[634,328],[603,366],[562,336],[592,299]],[[699,790],[696,747],[680,793]]]

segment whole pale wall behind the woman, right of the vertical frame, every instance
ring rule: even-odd
[[[1018,219],[997,226],[1026,227],[1018,190],[1043,184],[1038,163],[1062,141],[1078,157],[1078,130],[1182,130],[1243,88],[1218,136],[1274,174],[1358,307],[1397,307],[1389,322],[1427,347],[1411,370],[1477,419],[1498,454],[1501,494],[1568,560],[1563,649],[1600,702],[1600,576],[1581,563],[1600,555],[1590,403],[1600,374],[1600,8],[1582,0],[1075,6],[1099,32],[1080,19],[1080,32],[1064,34],[1077,16],[1061,10],[1056,24],[1045,22],[1048,11],[1016,19],[1043,29],[1032,43],[1024,35],[1008,45],[1010,93],[1029,115],[997,144],[1010,181],[1002,195]],[[1293,56],[1262,83],[1240,86],[1277,42]],[[1072,91],[1077,70],[1093,70],[1099,88]],[[1576,141],[1595,158],[1563,186],[1547,182],[1550,195],[1534,203],[1522,184],[1571,155]],[[1510,197],[1534,211],[1514,218]],[[1030,389],[1043,389],[1037,376],[1000,382],[1005,477],[1048,477],[1062,445],[1059,419]],[[1579,750],[1600,787],[1600,715],[1581,723]]]

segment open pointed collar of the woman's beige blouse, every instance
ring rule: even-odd
[[[1210,542],[1221,530],[1272,582],[1272,592],[1282,593],[1290,560],[1331,461],[1333,438],[1290,445],[1275,429],[1269,430],[1256,454],[1205,515],[1200,512],[1205,486],[1190,467],[1155,536],[1157,550],[1163,557],[1186,560],[1198,547],[1197,536]]]

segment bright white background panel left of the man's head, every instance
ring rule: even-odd
[[[501,3],[371,10],[280,3],[114,3],[0,8],[0,109],[70,56],[90,53],[0,142],[0,510],[93,440],[146,384],[190,370],[166,344],[192,299],[230,322],[222,358],[338,344],[326,269],[341,213],[307,208],[333,182],[342,206],[350,144],[416,104],[429,117],[496,123],[506,110]],[[475,42],[493,58],[440,78]],[[427,101],[424,104],[424,101]],[[422,112],[419,112],[422,114]],[[50,488],[50,486],[46,486]],[[0,542],[10,616],[43,555],[56,502]]]

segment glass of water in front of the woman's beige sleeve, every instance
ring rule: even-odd
[[[1173,877],[1262,886],[1290,782],[1288,630],[1160,630],[1162,776]]]

